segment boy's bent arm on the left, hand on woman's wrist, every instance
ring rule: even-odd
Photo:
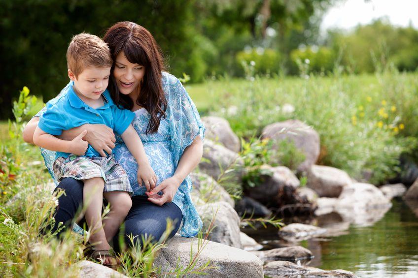
[[[34,144],[55,152],[70,153],[76,155],[84,155],[86,153],[89,143],[82,138],[87,133],[87,130],[83,130],[77,137],[71,141],[61,140],[44,132],[39,126],[36,126],[34,133]]]

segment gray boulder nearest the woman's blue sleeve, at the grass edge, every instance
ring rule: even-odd
[[[232,131],[228,121],[215,116],[202,117],[205,124],[205,138],[219,142],[233,152],[241,151],[241,143],[238,136]]]

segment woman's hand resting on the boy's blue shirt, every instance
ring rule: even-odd
[[[87,126],[86,126],[87,125]],[[93,147],[100,155],[106,157],[107,154],[112,153],[112,149],[115,147],[115,134],[113,130],[105,124],[85,124],[87,134],[84,136],[84,140],[88,141],[90,146]]]

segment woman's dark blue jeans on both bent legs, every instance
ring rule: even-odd
[[[65,194],[58,199],[58,206],[54,216],[57,224],[53,230],[57,228],[59,222],[63,222],[66,227],[60,231],[60,234],[72,227],[74,219],[81,211],[83,205],[83,185],[82,181],[65,178],[55,189],[61,188],[65,190]],[[172,238],[180,226],[182,217],[181,210],[173,202],[158,206],[148,201],[146,196],[134,196],[132,197],[132,208],[128,216],[126,216],[125,223],[120,231],[124,233],[123,236],[128,245],[131,244],[128,238],[128,235],[131,234],[138,236],[135,238],[135,243],[145,235],[152,236],[154,242],[156,242],[166,231],[167,218],[174,221],[174,230],[169,235],[169,238]],[[83,219],[78,224],[83,227],[84,223],[85,220]],[[123,230],[125,231],[122,232]],[[117,235],[113,239],[116,251],[119,250],[118,238]],[[142,241],[139,243],[142,244]]]

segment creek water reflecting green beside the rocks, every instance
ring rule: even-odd
[[[334,236],[300,242],[314,253],[308,265],[324,270],[344,269],[358,277],[418,278],[418,217],[403,200],[394,199],[390,210],[373,224],[347,227]],[[272,228],[248,235],[266,250],[288,246]]]

